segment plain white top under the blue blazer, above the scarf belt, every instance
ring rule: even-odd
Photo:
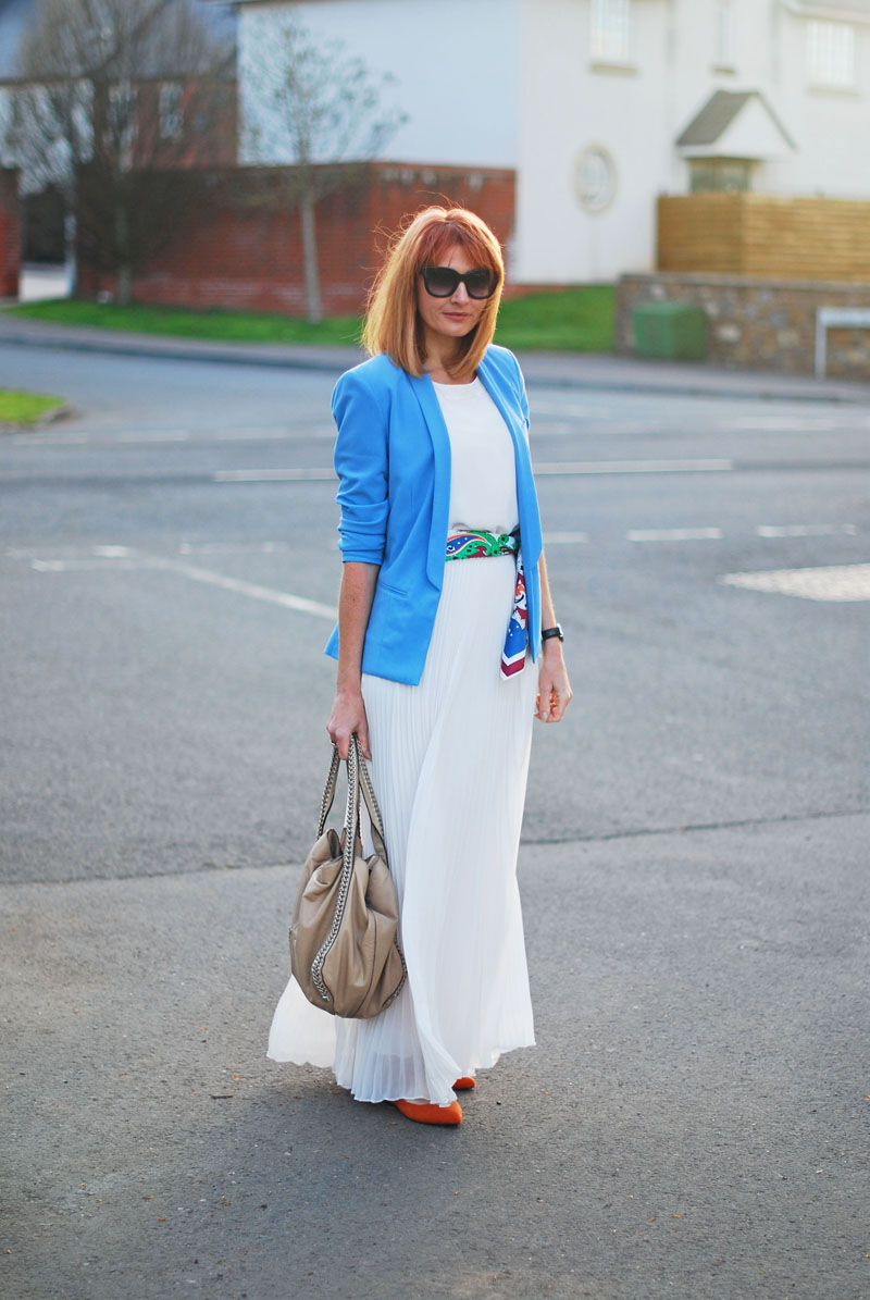
[[[450,532],[510,533],[519,524],[514,443],[480,382],[434,384],[450,434]]]

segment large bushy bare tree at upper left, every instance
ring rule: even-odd
[[[5,152],[25,192],[61,190],[79,251],[114,273],[121,302],[204,182],[178,170],[215,161],[234,121],[230,57],[187,0],[42,0],[22,38]]]

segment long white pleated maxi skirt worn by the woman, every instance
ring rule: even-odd
[[[516,855],[537,666],[501,676],[514,582],[511,555],[446,564],[420,684],[363,677],[408,978],[368,1020],[328,1015],[291,979],[268,1046],[332,1067],[358,1101],[449,1105],[462,1075],[534,1043]]]

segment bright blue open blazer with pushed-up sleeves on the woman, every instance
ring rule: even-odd
[[[516,358],[486,350],[477,374],[514,441],[532,658],[541,634],[541,517],[528,448],[528,400]],[[428,374],[388,356],[342,374],[333,391],[343,562],[380,564],[363,672],[416,686],[443,584],[450,511],[450,437]],[[485,528],[486,520],[471,520]],[[481,560],[480,563],[485,563]],[[505,611],[505,628],[510,611]],[[326,645],[338,658],[338,627]]]

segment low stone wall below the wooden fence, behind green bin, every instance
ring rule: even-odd
[[[710,361],[811,374],[817,309],[870,308],[870,277],[863,285],[843,285],[752,276],[623,276],[616,286],[616,351],[624,356],[635,348],[632,312],[648,302],[702,307],[710,318]],[[870,380],[870,329],[828,330],[827,373]]]

